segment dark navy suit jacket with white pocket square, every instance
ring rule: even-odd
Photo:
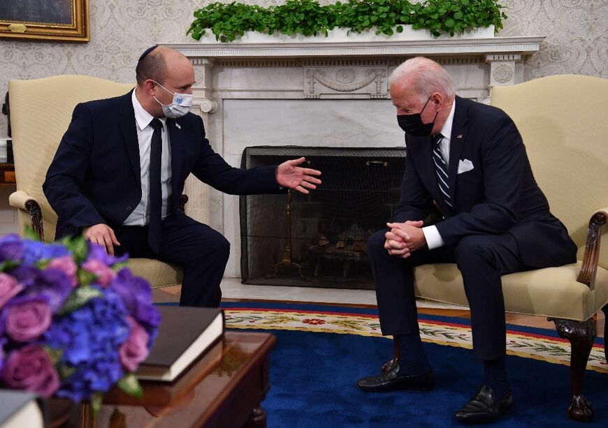
[[[393,221],[426,219],[435,200],[444,216],[435,226],[448,246],[467,235],[511,233],[530,267],[576,261],[576,245],[549,212],[521,135],[505,112],[456,97],[448,174],[453,207],[437,187],[430,137],[406,134],[405,140],[405,175]]]

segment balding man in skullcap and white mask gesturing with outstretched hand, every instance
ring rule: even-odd
[[[43,190],[57,212],[57,237],[82,233],[108,254],[129,253],[184,269],[180,304],[217,306],[229,242],[178,210],[190,173],[226,193],[302,193],[321,181],[304,158],[241,170],[213,152],[203,121],[189,112],[194,68],[154,46],[124,96],[76,106]]]

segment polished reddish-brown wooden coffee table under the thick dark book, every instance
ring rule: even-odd
[[[268,382],[273,334],[227,331],[173,384],[142,382],[142,400],[110,390],[94,421],[80,408],[80,427],[266,427],[260,403]]]

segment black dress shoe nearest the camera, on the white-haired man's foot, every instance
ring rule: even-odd
[[[454,413],[454,418],[470,424],[483,424],[497,420],[514,406],[513,394],[507,392],[505,397],[497,400],[494,391],[486,385],[482,385],[472,399],[469,400],[459,411]]]

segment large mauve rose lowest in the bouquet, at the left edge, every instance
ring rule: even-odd
[[[59,388],[59,376],[43,348],[28,345],[13,350],[4,362],[2,379],[6,386],[37,392],[48,398]]]

